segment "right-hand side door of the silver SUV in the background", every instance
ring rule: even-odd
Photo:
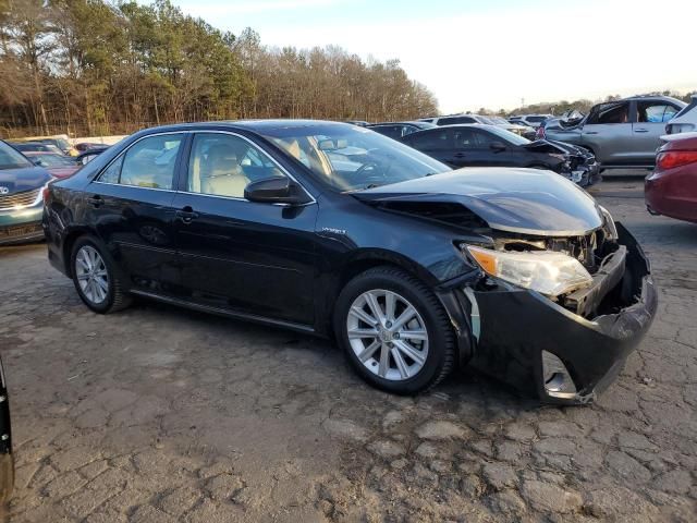
[[[638,161],[653,162],[665,124],[680,112],[677,106],[663,100],[637,100],[632,130],[634,153]]]

